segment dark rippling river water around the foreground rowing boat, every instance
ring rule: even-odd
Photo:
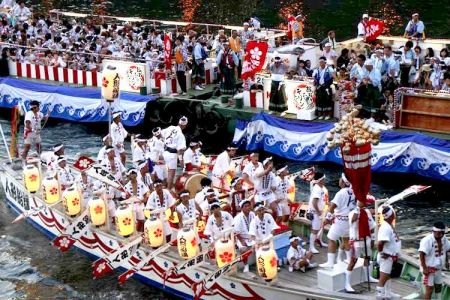
[[[0,124],[9,137],[8,122],[0,119]],[[93,133],[91,127],[91,124],[52,121],[43,130],[43,149],[49,150],[54,144],[63,142],[69,157],[80,152],[96,156],[106,125],[96,126],[100,127],[96,129],[97,133]],[[129,148],[128,145],[127,147]],[[0,145],[0,155],[6,155],[3,144]],[[310,163],[282,160],[275,163],[288,163],[292,172],[311,166]],[[327,175],[327,187],[333,196],[337,192],[341,167],[320,164],[318,168]],[[450,203],[446,202],[450,197],[443,183],[401,174],[375,174],[373,177],[371,190],[377,197],[394,195],[411,184],[433,185],[431,192],[395,205],[402,245],[409,247],[411,252],[415,252],[420,237],[430,230],[433,222],[443,220],[450,223]],[[298,198],[307,201],[309,185],[297,181],[297,188]],[[0,197],[4,197],[3,190]],[[117,274],[92,280],[91,261],[87,257],[74,251],[61,253],[51,247],[49,240],[29,224],[11,224],[13,218],[11,209],[4,201],[0,201],[0,299],[154,299],[165,296],[159,290],[135,280],[129,280],[121,287],[117,283]]]

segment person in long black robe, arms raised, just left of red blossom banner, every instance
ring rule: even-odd
[[[236,93],[236,66],[239,65],[239,58],[230,48],[229,42],[224,42],[223,49],[217,54],[216,63],[219,66],[220,91],[225,95]]]

